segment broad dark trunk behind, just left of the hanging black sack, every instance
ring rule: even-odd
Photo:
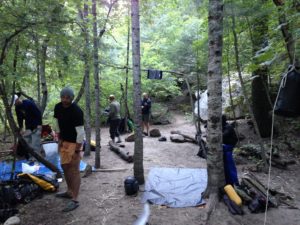
[[[266,0],[261,0],[262,5],[265,3]],[[257,68],[252,73],[252,108],[261,137],[269,137],[272,126],[270,114],[272,105],[269,102],[270,97],[267,88],[268,67],[262,65],[263,62],[258,57],[255,57],[259,51],[268,46],[267,22],[268,15],[265,14],[254,19],[253,35],[255,38],[252,39],[253,59]]]

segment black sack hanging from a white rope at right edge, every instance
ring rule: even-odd
[[[291,70],[280,81],[281,88],[274,113],[278,116],[300,116],[300,73]]]

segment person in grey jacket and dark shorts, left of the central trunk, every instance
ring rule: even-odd
[[[117,137],[117,143],[121,143],[122,141],[119,132],[119,125],[121,122],[120,103],[116,100],[114,95],[109,96],[109,101],[108,119],[110,138],[115,142],[115,137]]]

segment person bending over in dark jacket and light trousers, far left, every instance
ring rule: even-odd
[[[17,121],[20,134],[28,145],[38,154],[41,153],[41,131],[42,131],[42,113],[34,103],[29,99],[21,100],[18,95],[14,96],[14,105],[17,115]],[[23,123],[25,121],[25,130]]]

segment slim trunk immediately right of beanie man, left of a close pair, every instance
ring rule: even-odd
[[[84,112],[84,120],[85,120],[85,151],[84,156],[89,156],[91,154],[91,100],[90,100],[90,65],[89,65],[89,29],[88,29],[88,0],[85,0],[84,4],[84,14],[83,14],[83,24],[84,24],[84,39],[85,39],[85,48],[83,53],[84,60],[84,93],[85,93],[85,112]]]

